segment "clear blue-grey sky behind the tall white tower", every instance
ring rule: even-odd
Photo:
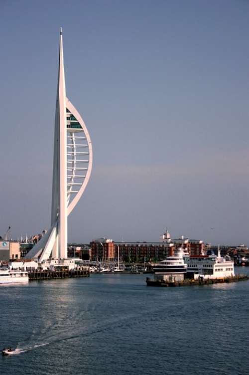
[[[249,244],[249,1],[1,0],[0,20],[0,234],[50,223],[62,26],[94,152],[69,241]]]

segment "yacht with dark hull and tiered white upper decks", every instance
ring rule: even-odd
[[[155,274],[183,274],[187,272],[187,264],[184,260],[184,249],[179,248],[175,255],[168,256],[153,268]]]

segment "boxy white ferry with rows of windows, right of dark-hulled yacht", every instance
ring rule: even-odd
[[[184,257],[188,272],[193,272],[193,278],[198,279],[223,279],[234,276],[234,262],[230,256],[222,257],[220,251],[218,256],[213,251],[208,255],[193,255]]]

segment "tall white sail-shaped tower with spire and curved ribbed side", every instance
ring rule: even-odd
[[[39,262],[67,258],[67,216],[85,190],[92,170],[92,144],[82,117],[66,97],[62,29],[54,127],[51,227],[28,252]]]

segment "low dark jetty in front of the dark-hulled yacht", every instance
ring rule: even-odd
[[[237,281],[249,280],[248,275],[236,275],[217,279],[185,279],[182,281],[165,281],[165,280],[152,280],[146,277],[147,286],[159,286],[159,287],[176,287],[176,286],[193,286],[193,285],[212,285],[221,283],[232,283]]]

